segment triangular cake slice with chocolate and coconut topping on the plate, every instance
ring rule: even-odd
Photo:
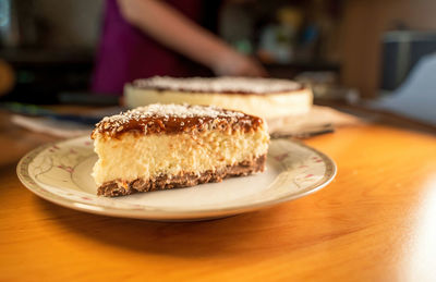
[[[216,107],[149,105],[101,120],[92,134],[98,195],[220,182],[265,170],[263,119]]]

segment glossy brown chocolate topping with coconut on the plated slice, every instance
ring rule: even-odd
[[[264,121],[239,111],[222,110],[214,106],[149,105],[102,119],[96,124],[92,137],[102,134],[119,137],[123,133],[177,134],[205,130],[255,131]]]

